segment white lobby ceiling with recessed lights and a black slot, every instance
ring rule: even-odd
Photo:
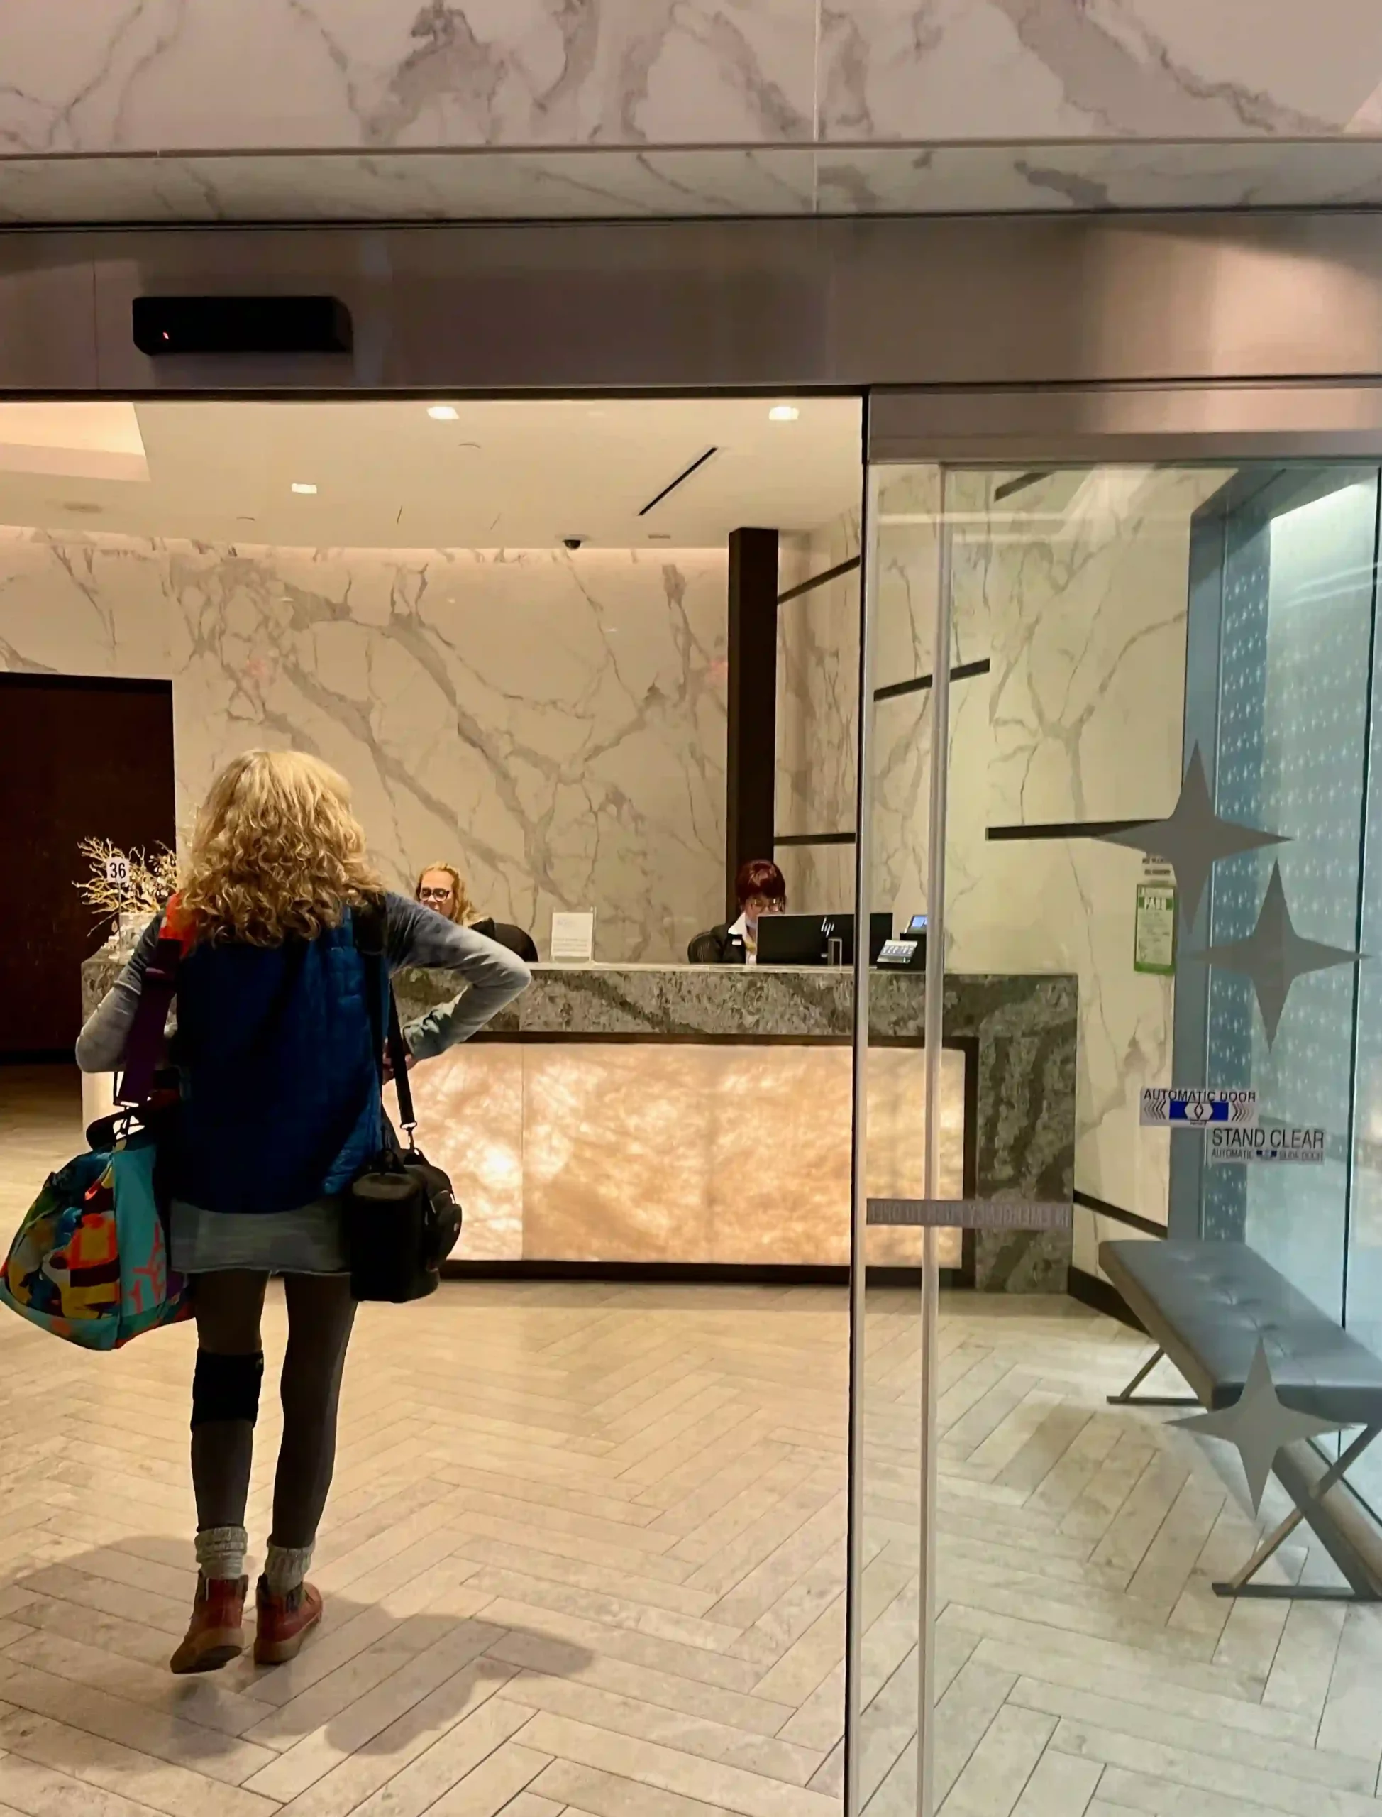
[[[854,398],[0,403],[0,523],[292,547],[717,547],[857,505]],[[663,503],[654,494],[717,452]],[[312,496],[292,485],[316,485]]]

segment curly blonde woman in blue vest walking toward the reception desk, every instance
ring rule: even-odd
[[[254,1659],[276,1664],[321,1617],[305,1581],[336,1457],[336,1406],[354,1301],[341,1196],[381,1139],[380,1056],[352,912],[383,899],[385,958],[469,983],[447,1043],[483,1027],[528,983],[521,959],[401,896],[385,896],[345,781],[300,752],[251,750],[202,809],[178,892],[191,936],[178,970],[171,1265],[192,1281],[192,1488],[198,1586],[174,1672],[243,1648],[245,1501],[271,1274],[289,1341],[283,1443],[256,1590]],[[76,1043],[84,1072],[120,1067],[158,919]],[[434,1048],[436,1050],[436,1048]]]

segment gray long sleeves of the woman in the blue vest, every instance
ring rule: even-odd
[[[76,1038],[76,1065],[82,1072],[114,1072],[122,1065],[143,972],[158,945],[160,919],[154,916],[143,930],[129,963]],[[385,898],[385,959],[390,972],[420,965],[465,978],[467,988],[459,998],[403,1030],[409,1048],[420,1059],[467,1041],[505,1003],[527,990],[532,979],[523,959],[507,947],[392,892]]]

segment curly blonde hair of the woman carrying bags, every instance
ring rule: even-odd
[[[198,939],[278,947],[381,889],[345,778],[301,750],[247,750],[202,803],[180,903]]]

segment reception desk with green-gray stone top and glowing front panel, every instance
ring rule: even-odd
[[[85,963],[87,1008],[120,958]],[[461,988],[394,983],[405,1023]],[[1075,1001],[1066,976],[946,978],[943,1197],[1070,1199]],[[872,1197],[923,1196],[923,1003],[921,974],[872,974]],[[536,967],[481,1036],[410,1074],[421,1145],[465,1206],[452,1259],[844,1266],[852,1021],[844,970]],[[868,1232],[870,1265],[919,1257],[917,1230]],[[1059,1292],[1068,1261],[1068,1232],[941,1234],[943,1266],[988,1290]]]

